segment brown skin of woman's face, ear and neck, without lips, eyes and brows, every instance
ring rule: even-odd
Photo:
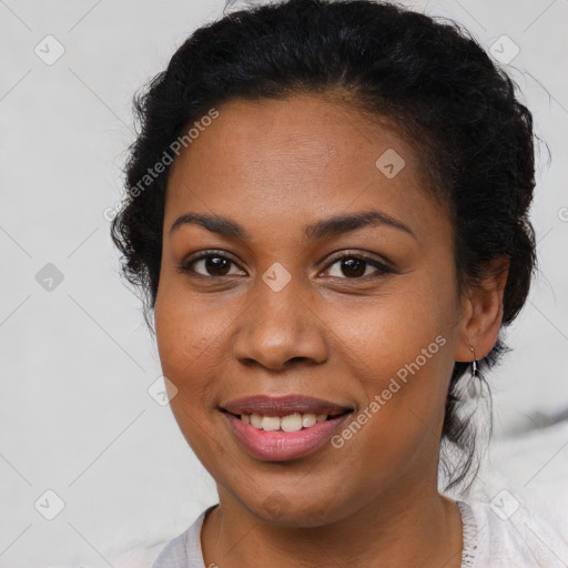
[[[458,297],[449,217],[396,129],[315,94],[217,109],[172,166],[155,304],[172,410],[220,495],[203,525],[205,566],[458,568],[459,511],[437,493],[444,405],[454,362],[470,362],[470,347],[484,356],[497,338],[506,271]],[[406,162],[393,179],[375,165],[387,149]],[[384,224],[304,236],[306,224],[369,210],[414,236]],[[170,234],[189,212],[229,216],[251,239],[196,224]],[[233,263],[176,270],[209,248]],[[395,272],[363,264],[358,275],[335,258],[358,254]],[[262,280],[276,262],[291,275],[280,292]],[[219,409],[304,394],[356,416],[437,336],[445,345],[339,449],[263,462]]]

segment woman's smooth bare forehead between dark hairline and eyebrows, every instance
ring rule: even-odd
[[[232,100],[217,111],[172,165],[166,223],[196,209],[256,225],[369,206],[415,224],[428,207],[439,216],[417,148],[387,121],[314,94]]]

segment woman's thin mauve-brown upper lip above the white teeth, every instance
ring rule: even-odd
[[[353,408],[342,406],[323,398],[314,398],[305,395],[268,396],[256,395],[245,396],[230,400],[222,406],[231,414],[258,414],[261,416],[287,416],[288,414],[327,414],[335,416],[351,412]]]

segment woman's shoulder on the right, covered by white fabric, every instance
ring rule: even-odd
[[[567,542],[509,491],[503,490],[490,501],[462,501],[460,509],[464,548],[469,538],[463,568],[557,568],[568,565]]]

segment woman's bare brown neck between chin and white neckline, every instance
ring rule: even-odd
[[[202,529],[205,566],[359,566],[423,568],[462,565],[457,505],[436,485],[388,491],[338,520],[290,527],[260,519],[220,488],[220,507]]]

